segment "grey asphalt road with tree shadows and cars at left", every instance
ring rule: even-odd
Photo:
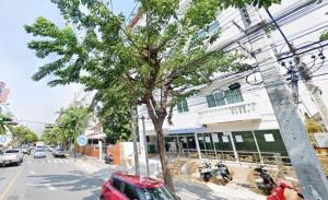
[[[96,200],[102,183],[72,160],[25,155],[20,166],[0,167],[0,200]]]

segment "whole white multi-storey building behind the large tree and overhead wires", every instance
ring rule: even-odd
[[[190,0],[181,1],[178,12],[183,12],[189,2]],[[274,16],[282,16],[302,2],[282,1],[282,3],[280,7],[272,7],[271,10]],[[320,32],[314,31],[313,27],[327,25],[324,19],[327,2],[309,5],[307,9],[309,12],[303,15],[300,15],[300,13],[297,15],[295,11],[293,17],[280,22],[281,27],[286,31],[286,35],[294,45],[297,46],[308,40],[318,39]],[[265,11],[259,12],[262,15],[265,14]],[[140,15],[138,19],[142,21]],[[316,19],[316,21],[313,21],[313,19]],[[270,19],[266,21],[268,22]],[[298,28],[295,28],[297,24]],[[221,31],[221,38],[210,45],[209,49],[224,46],[225,50],[231,50],[239,46],[238,40],[225,46],[226,40],[232,40],[243,34],[241,27],[244,27],[241,13],[238,10],[231,8],[220,12],[216,20],[210,25],[209,31],[201,33],[200,36],[206,37]],[[239,42],[246,43],[247,46],[246,39],[243,38]],[[263,46],[262,50],[273,50],[277,54],[286,50],[278,32],[272,31],[271,39],[270,46]],[[250,64],[256,63],[251,59],[247,62]],[[325,70],[325,67],[316,73],[323,72],[323,70]],[[283,69],[281,71],[282,73],[285,72]],[[197,157],[220,157],[221,154],[224,154],[225,157],[231,160],[245,160],[251,155],[266,160],[267,156],[271,157],[274,153],[286,155],[279,125],[266,89],[262,84],[248,84],[249,80],[246,81],[245,79],[247,73],[250,72],[239,73],[238,75],[220,74],[213,84],[203,86],[198,95],[180,102],[173,111],[173,125],[168,125],[167,121],[164,123],[167,151],[188,153],[190,156]],[[321,82],[317,83],[323,85]],[[316,114],[317,109],[311,102],[308,93],[304,89],[302,90],[302,85],[300,98],[303,102],[298,106],[300,114],[303,115],[305,111],[309,111],[311,115]],[[328,103],[327,98],[325,98],[325,102]],[[306,109],[308,107],[311,107],[309,110]],[[145,106],[139,107],[139,116],[148,116]],[[141,120],[139,127],[142,127]],[[145,120],[145,132],[148,149],[150,152],[155,152],[157,140],[150,119]]]

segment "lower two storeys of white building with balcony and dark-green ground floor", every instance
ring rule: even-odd
[[[139,108],[139,115],[147,116],[144,107]],[[164,123],[166,150],[172,153],[232,161],[286,155],[266,90],[251,89],[245,79],[218,80],[201,89],[174,108],[172,121]],[[145,132],[149,152],[155,152],[157,142],[150,119],[145,120]]]

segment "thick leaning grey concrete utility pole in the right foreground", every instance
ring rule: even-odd
[[[261,22],[261,16],[254,7],[241,9],[239,12],[246,27],[246,34],[251,25]],[[249,15],[248,13],[253,14]],[[265,30],[260,30],[259,34],[260,36],[257,38],[248,37],[249,44],[253,51],[257,52],[255,59],[258,62],[263,84],[273,107],[286,151],[302,187],[302,192],[305,199],[308,200],[327,199],[328,183],[326,176],[307,139],[296,106],[280,74],[279,63],[273,51],[262,50],[265,46],[269,46],[268,35]]]

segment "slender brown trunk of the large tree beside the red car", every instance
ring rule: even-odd
[[[162,120],[164,121],[164,119]],[[162,172],[163,172],[163,177],[166,186],[168,189],[175,193],[174,185],[173,185],[173,179],[171,175],[171,169],[168,167],[167,163],[167,157],[166,157],[166,150],[165,150],[165,139],[164,139],[164,133],[163,133],[163,122],[153,120],[154,128],[156,131],[157,136],[157,143],[160,148],[160,157],[161,157],[161,163],[162,163]]]

